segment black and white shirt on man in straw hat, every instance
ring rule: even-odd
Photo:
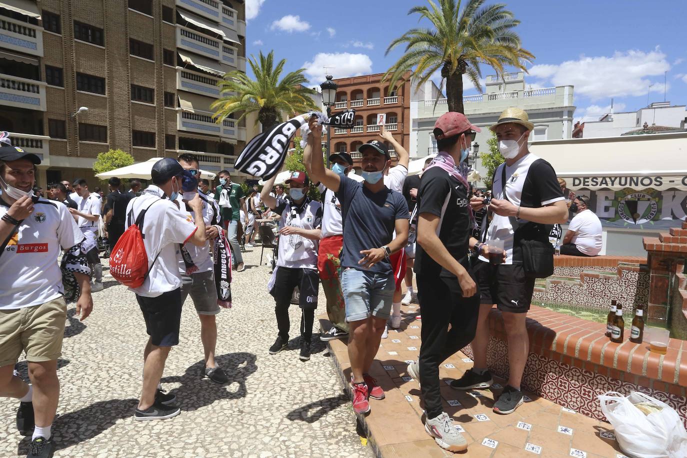
[[[506,183],[502,181],[503,169],[506,168]],[[556,178],[556,171],[547,161],[540,159],[530,152],[519,159],[513,165],[502,163],[494,173],[492,195],[497,199],[504,199],[516,207],[539,208],[557,201],[563,201],[563,192]],[[504,264],[521,264],[519,250],[516,250],[514,259],[513,241],[515,230],[528,223],[527,220],[515,217],[499,216],[493,214],[486,233],[486,243],[489,240],[504,240],[506,249],[506,262]],[[488,262],[486,257],[480,256],[480,260]]]

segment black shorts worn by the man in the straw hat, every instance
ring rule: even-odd
[[[534,277],[525,275],[522,264],[499,264],[477,260],[473,272],[480,286],[480,303],[496,304],[502,312],[530,310]]]

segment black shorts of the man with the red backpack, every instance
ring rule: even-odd
[[[136,295],[136,300],[146,320],[150,343],[158,347],[179,345],[181,288],[162,293],[158,297]]]

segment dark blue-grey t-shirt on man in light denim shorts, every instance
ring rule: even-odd
[[[394,238],[396,220],[407,220],[408,205],[399,192],[387,187],[372,192],[363,183],[341,176],[339,192],[343,214],[343,250],[341,266],[360,271],[391,273],[389,260],[383,259],[371,268],[358,264],[362,250],[381,248]]]

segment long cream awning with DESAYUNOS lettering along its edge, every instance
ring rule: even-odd
[[[687,133],[534,141],[571,190],[687,190]]]

